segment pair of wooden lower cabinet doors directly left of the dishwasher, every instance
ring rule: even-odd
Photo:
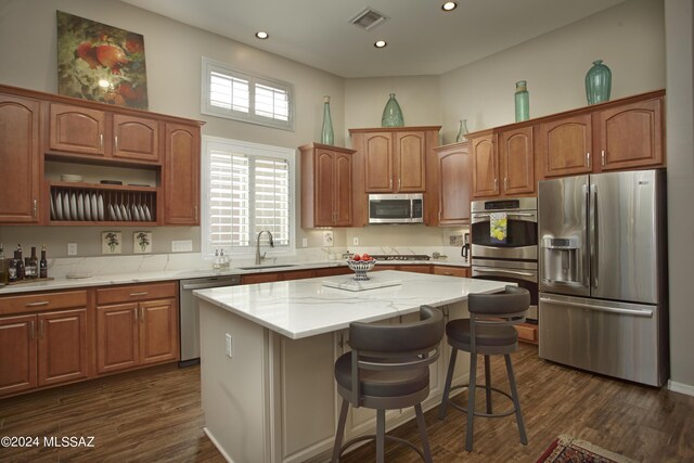
[[[178,305],[171,298],[97,307],[97,372],[177,360]]]

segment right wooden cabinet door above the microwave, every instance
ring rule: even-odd
[[[424,132],[395,132],[393,159],[396,171],[394,191],[396,193],[423,192],[426,187]]]

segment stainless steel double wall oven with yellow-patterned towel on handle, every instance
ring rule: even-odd
[[[527,319],[538,320],[538,201],[475,201],[472,213],[472,276],[516,283],[530,292]],[[494,235],[502,223],[503,237]]]

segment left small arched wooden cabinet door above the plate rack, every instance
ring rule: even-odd
[[[104,156],[106,113],[88,107],[50,103],[49,149]]]

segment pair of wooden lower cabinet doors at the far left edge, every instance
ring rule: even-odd
[[[87,308],[0,318],[0,396],[89,377]]]

